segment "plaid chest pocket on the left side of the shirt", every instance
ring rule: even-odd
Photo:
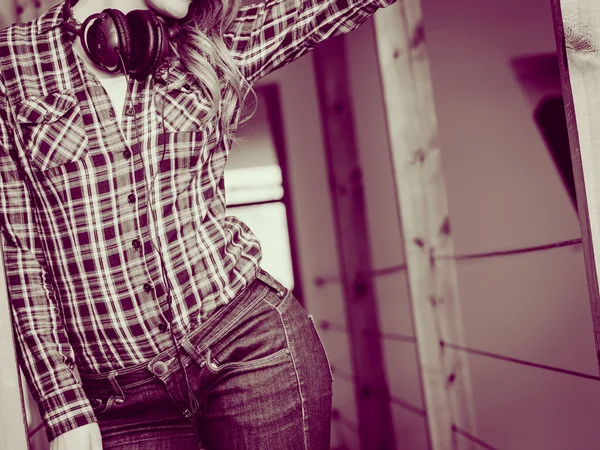
[[[26,155],[40,171],[76,161],[87,153],[88,136],[73,91],[27,98],[17,108],[17,120]]]

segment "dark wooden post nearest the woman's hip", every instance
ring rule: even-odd
[[[314,51],[361,449],[396,448],[379,318],[371,276],[371,251],[348,81],[344,37],[324,42]],[[370,333],[369,333],[370,331]]]

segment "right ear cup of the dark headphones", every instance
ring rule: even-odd
[[[143,79],[153,73],[164,57],[167,31],[163,23],[147,10],[134,10],[127,14],[132,36],[130,73]]]

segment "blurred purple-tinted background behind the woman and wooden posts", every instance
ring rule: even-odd
[[[1,25],[55,2],[4,2]],[[578,238],[548,0],[422,0],[456,253]],[[378,14],[385,14],[380,11]],[[344,40],[383,336],[414,336],[372,20]],[[230,214],[315,318],[334,369],[331,448],[359,449],[332,197],[313,55],[264,79],[227,176]],[[393,120],[393,119],[392,119]],[[581,246],[458,262],[469,347],[597,375]],[[328,326],[323,326],[328,325]],[[381,340],[395,442],[429,443],[414,343]],[[595,449],[600,385],[469,356],[480,448]],[[393,399],[396,399],[393,401]],[[30,406],[32,448],[47,448]],[[478,448],[475,446],[473,448]]]

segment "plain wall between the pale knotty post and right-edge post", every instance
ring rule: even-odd
[[[510,59],[555,51],[547,0],[423,0],[458,253],[580,236]],[[597,375],[580,248],[459,263],[467,344]],[[470,358],[479,435],[501,449],[591,449],[594,381]]]

